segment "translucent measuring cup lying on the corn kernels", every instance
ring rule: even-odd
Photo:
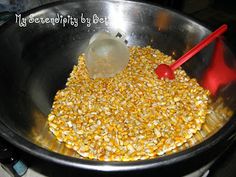
[[[129,62],[129,50],[124,35],[95,33],[89,41],[85,57],[91,78],[114,77],[124,70]]]

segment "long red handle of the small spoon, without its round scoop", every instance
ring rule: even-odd
[[[228,26],[226,24],[219,27],[217,30],[215,30],[213,33],[211,33],[209,36],[203,39],[200,43],[194,46],[191,50],[189,50],[183,56],[181,56],[178,60],[176,60],[172,65],[170,65],[171,69],[173,71],[177,69],[187,60],[192,58],[196,53],[198,53],[200,50],[202,50],[204,47],[206,47],[208,44],[214,41],[217,37],[223,34],[227,29],[228,29]]]

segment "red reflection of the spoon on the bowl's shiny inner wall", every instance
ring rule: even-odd
[[[236,81],[236,68],[227,66],[224,58],[224,43],[218,38],[210,66],[203,75],[202,86],[208,89],[212,95],[216,95],[220,87],[226,86],[232,81]]]

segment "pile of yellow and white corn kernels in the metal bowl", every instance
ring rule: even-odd
[[[91,79],[84,55],[55,96],[49,129],[81,158],[133,161],[161,156],[193,136],[209,113],[209,91],[185,71],[158,79],[173,62],[151,47],[130,47],[130,61],[113,78]]]

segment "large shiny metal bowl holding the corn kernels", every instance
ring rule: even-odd
[[[59,174],[86,172],[87,175],[147,175],[155,172],[177,176],[207,164],[230,145],[235,134],[235,116],[201,143],[152,160],[99,162],[70,157],[75,153],[58,144],[48,132],[47,115],[56,91],[64,87],[78,55],[96,31],[122,30],[127,34],[129,45],[151,45],[169,55],[174,51],[175,58],[210,33],[208,28],[171,10],[120,0],[54,3],[21,14],[21,17],[29,22],[32,17],[53,18],[57,14],[81,17],[82,13],[90,18],[94,14],[107,17],[108,24],[97,23],[88,27],[86,23],[79,23],[78,27],[69,24],[63,27],[61,23],[27,23],[26,27],[20,27],[18,14],[0,28],[1,137],[26,154],[42,160],[43,166],[48,163],[56,165]],[[235,62],[232,52],[227,46],[225,48],[228,63]],[[213,44],[184,66],[199,82],[209,65],[212,51]],[[233,108],[236,97],[232,90],[234,84],[229,83],[219,90],[218,96],[223,96],[225,104]]]

